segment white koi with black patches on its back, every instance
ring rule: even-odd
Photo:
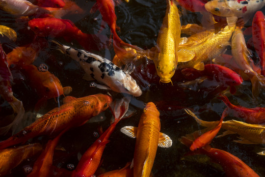
[[[55,41],[52,41],[51,49],[57,49],[78,61],[86,72],[87,78],[84,78],[86,80],[91,80],[92,78],[105,84],[107,86],[104,86],[105,89],[111,89],[116,92],[128,93],[133,96],[140,96],[142,94],[141,89],[130,76],[130,73],[124,72],[108,59],[85,50],[59,44]]]

